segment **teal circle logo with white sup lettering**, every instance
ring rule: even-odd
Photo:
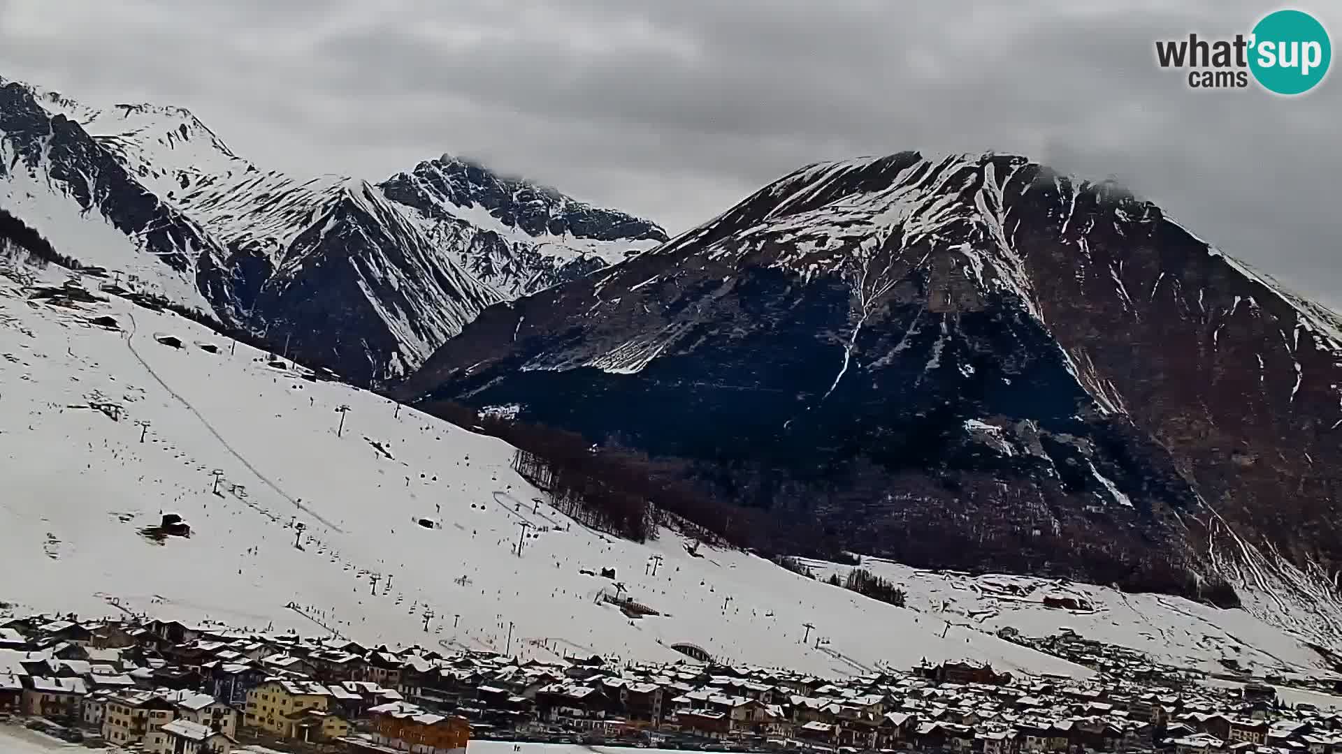
[[[1329,72],[1333,44],[1329,32],[1303,11],[1276,11],[1253,27],[1249,70],[1275,94],[1304,94]]]

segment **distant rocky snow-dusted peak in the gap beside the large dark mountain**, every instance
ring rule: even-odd
[[[538,291],[667,240],[648,220],[603,209],[444,154],[381,185],[412,207],[439,246],[509,298]]]

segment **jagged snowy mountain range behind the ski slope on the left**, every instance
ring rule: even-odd
[[[25,170],[0,174],[0,204],[62,254],[134,275],[360,384],[403,377],[501,298],[666,239],[651,223],[478,166],[451,185],[298,178],[239,157],[181,107],[94,107],[17,83],[5,91],[0,148],[30,157]],[[42,153],[52,130],[78,144],[66,164]],[[103,170],[133,188],[118,184],[90,211],[66,176],[78,184]],[[136,201],[153,209],[122,207]],[[538,212],[548,213],[539,229]],[[114,220],[122,215],[133,220]],[[140,237],[160,228],[189,237]]]

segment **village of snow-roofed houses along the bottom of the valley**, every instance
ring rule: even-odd
[[[1134,661],[1137,659],[1134,657]],[[467,741],[718,750],[1342,754],[1342,716],[1154,668],[1091,680],[945,663],[841,680],[711,661],[552,663],[173,621],[0,618],[0,711],[125,749],[463,754]],[[1155,672],[1159,671],[1159,672]]]

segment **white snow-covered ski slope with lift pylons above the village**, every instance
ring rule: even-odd
[[[997,637],[1002,625],[1033,636],[1070,627],[1206,671],[1221,657],[1256,671],[1322,667],[1247,613],[1173,597],[1071,585],[1095,606],[1078,614],[989,598],[988,577],[871,563],[909,593],[895,608],[745,553],[703,546],[694,557],[667,530],[617,539],[537,502],[501,440],[309,381],[283,358],[99,294],[94,278],[79,283],[106,301],[79,303],[30,298],[66,284],[59,267],[8,259],[0,271],[0,601],[15,610],[538,660],[674,661],[686,657],[671,645],[692,644],[727,663],[831,678],[923,660],[1091,675]],[[164,514],[191,537],[146,537]],[[662,614],[629,618],[607,594]],[[968,614],[988,602],[992,616]]]

